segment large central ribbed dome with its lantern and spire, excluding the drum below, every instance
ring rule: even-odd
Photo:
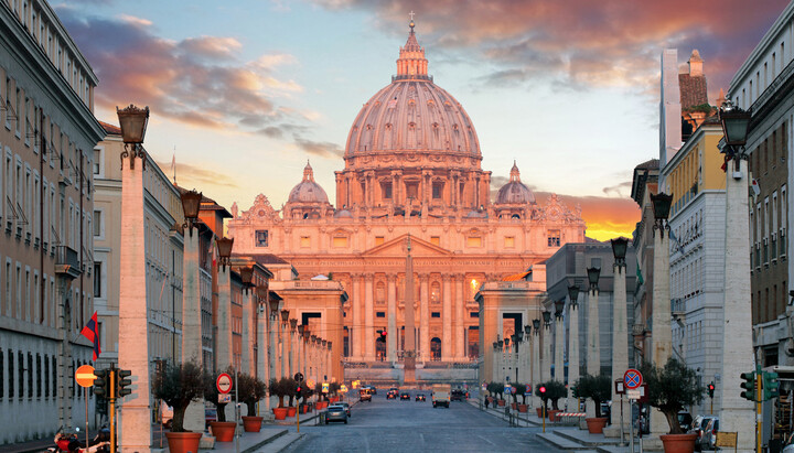
[[[480,141],[461,104],[433,84],[425,48],[410,23],[400,47],[397,75],[358,112],[347,137],[345,158],[369,152],[429,151],[480,158]]]

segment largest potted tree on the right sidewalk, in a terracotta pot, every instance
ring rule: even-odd
[[[644,363],[640,367],[647,382],[648,405],[664,413],[669,433],[659,435],[666,453],[695,451],[697,434],[686,434],[678,423],[678,411],[686,406],[699,405],[706,388],[698,382],[697,374],[674,357],[664,367]]]

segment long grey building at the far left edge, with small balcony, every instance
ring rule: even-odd
[[[0,2],[0,444],[93,419],[96,84],[46,1]]]

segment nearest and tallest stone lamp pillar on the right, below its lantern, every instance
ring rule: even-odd
[[[726,174],[726,260],[722,324],[722,409],[720,430],[739,433],[739,451],[754,451],[754,408],[739,396],[742,373],[755,368],[752,354],[752,312],[750,304],[750,222],[748,219],[748,172],[745,160],[728,162]],[[737,177],[738,176],[738,177]],[[654,263],[655,266],[655,263]],[[656,274],[654,273],[654,278]],[[654,294],[654,298],[656,295]],[[654,301],[655,305],[655,301]],[[654,320],[655,321],[655,320]],[[654,324],[654,331],[655,331]],[[655,333],[654,333],[655,335]]]

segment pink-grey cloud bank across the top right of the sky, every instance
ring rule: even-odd
[[[710,94],[728,87],[788,0],[709,2],[666,0],[313,0],[329,10],[372,12],[391,33],[405,35],[406,11],[417,11],[426,48],[463,52],[470,63],[494,66],[476,82],[558,86],[618,86],[645,93],[658,78],[659,54],[693,48],[706,60]]]

